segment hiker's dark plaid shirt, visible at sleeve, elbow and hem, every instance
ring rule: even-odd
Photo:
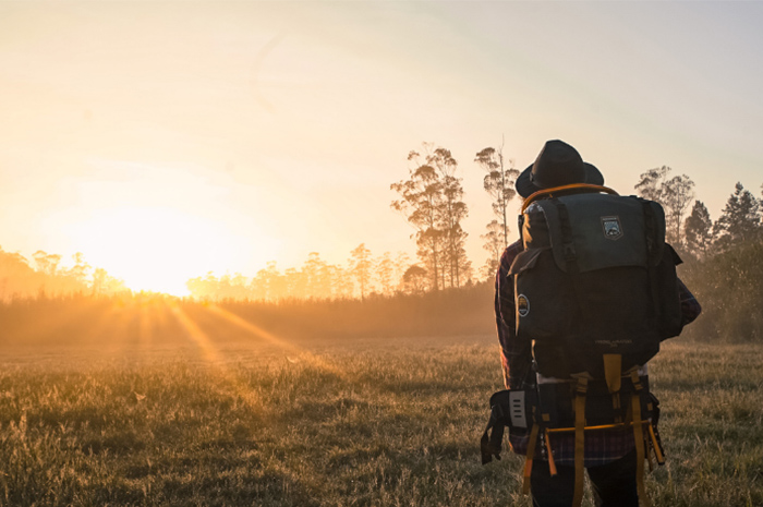
[[[495,312],[500,341],[500,359],[504,383],[507,389],[522,389],[535,384],[532,375],[532,343],[517,339],[517,315],[514,310],[513,280],[508,273],[514,257],[522,251],[521,241],[510,244],[500,257],[496,274]],[[689,324],[702,311],[700,303],[689,289],[678,280],[683,323]],[[524,455],[528,449],[526,434],[510,434],[509,442],[514,452]],[[574,435],[554,435],[549,438],[554,461],[561,466],[574,464]],[[597,431],[585,435],[585,467],[606,464],[622,458],[632,450],[633,432],[630,428]],[[538,447],[543,459],[547,459],[545,446]]]

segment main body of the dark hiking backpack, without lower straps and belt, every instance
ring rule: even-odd
[[[605,354],[627,371],[681,331],[680,259],[662,206],[591,192],[602,189],[525,202],[520,218],[524,250],[509,271],[517,337],[533,341],[544,376],[603,378]]]

